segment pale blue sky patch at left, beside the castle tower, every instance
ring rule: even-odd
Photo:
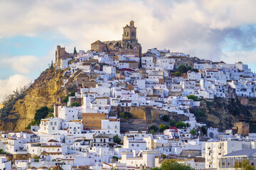
[[[34,68],[27,76],[33,80],[48,67],[48,64],[55,62],[54,50],[56,45],[68,44],[70,40],[64,39],[61,36],[40,35],[40,36],[14,36],[10,38],[0,39],[0,58],[5,60],[17,56],[35,56],[43,62],[43,67]],[[50,52],[50,53],[49,53]],[[46,60],[47,59],[47,60]],[[36,63],[33,63],[36,64]],[[21,66],[18,66],[21,67]],[[6,79],[11,75],[20,73],[14,67],[0,67],[0,79]]]

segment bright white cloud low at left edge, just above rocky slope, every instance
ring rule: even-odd
[[[30,82],[31,79],[21,74],[14,74],[8,79],[0,79],[0,103],[3,101],[5,95],[12,94],[15,89],[20,89]]]

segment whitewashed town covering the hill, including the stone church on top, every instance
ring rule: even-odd
[[[193,169],[256,163],[252,125],[210,127],[197,110],[222,98],[239,105],[256,98],[256,74],[247,64],[156,48],[142,53],[130,21],[122,40],[96,40],[90,50],[71,53],[58,45],[49,69],[61,71],[64,96],[53,108],[38,108],[26,130],[1,131],[0,169],[151,169],[166,159]]]

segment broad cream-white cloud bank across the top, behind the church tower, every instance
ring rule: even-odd
[[[144,51],[167,47],[220,57],[225,30],[256,23],[255,6],[254,0],[1,1],[0,37],[60,33],[73,41],[67,50],[87,50],[98,39],[121,39],[122,27],[133,19]]]

